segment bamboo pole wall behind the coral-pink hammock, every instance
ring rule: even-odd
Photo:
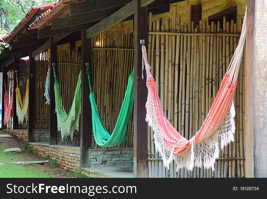
[[[221,80],[227,70],[238,43],[237,36],[207,36],[207,33],[237,33],[241,30],[233,20],[223,25],[217,22],[199,26],[191,23],[191,7],[188,8],[188,22],[181,23],[176,14],[160,26],[160,20],[152,22],[149,15],[148,62],[157,82],[157,89],[166,118],[186,139],[190,139],[200,129],[215,98]],[[173,32],[185,34],[174,35]],[[196,33],[188,35],[187,32]],[[202,34],[199,34],[202,33]],[[153,132],[148,130],[148,171],[149,177],[244,177],[245,176],[245,109],[244,76],[245,52],[242,56],[238,85],[234,95],[236,110],[235,141],[224,151],[220,151],[215,163],[215,171],[194,168],[181,169],[171,164],[168,171],[162,165],[160,154],[155,151]]]

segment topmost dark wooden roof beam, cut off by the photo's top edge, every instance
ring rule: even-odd
[[[126,5],[132,0],[90,0],[71,4],[69,7],[69,16],[80,15],[86,12],[100,11],[106,8],[113,8],[119,5]]]

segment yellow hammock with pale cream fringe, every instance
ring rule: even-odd
[[[19,123],[22,124],[25,118],[26,123],[28,122],[28,105],[29,105],[29,79],[27,79],[27,87],[26,87],[26,94],[24,101],[22,103],[20,91],[19,91],[19,83],[18,83],[18,75],[16,73],[17,79],[17,88],[16,88],[16,109],[17,109],[17,116],[19,119]]]

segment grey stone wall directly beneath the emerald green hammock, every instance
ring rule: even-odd
[[[123,166],[133,165],[133,148],[91,149],[90,166]]]

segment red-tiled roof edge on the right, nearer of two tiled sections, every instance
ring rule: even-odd
[[[51,6],[45,13],[40,15],[38,19],[35,20],[32,24],[29,25],[29,30],[34,28],[43,28],[47,25],[50,25],[49,20],[55,15],[56,18],[63,18],[69,15],[69,5],[71,3],[76,3],[77,1],[82,2],[85,0],[59,0],[54,5]],[[49,23],[49,24],[46,24]],[[45,26],[44,26],[45,25]]]

